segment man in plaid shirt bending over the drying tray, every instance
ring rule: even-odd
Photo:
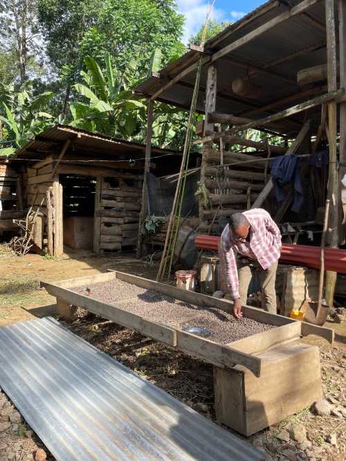
[[[233,214],[221,234],[219,249],[226,263],[235,317],[242,317],[242,305],[246,304],[248,285],[255,272],[260,278],[264,310],[276,314],[275,278],[281,234],[271,215],[261,208]]]

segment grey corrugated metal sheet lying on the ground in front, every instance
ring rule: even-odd
[[[263,459],[51,318],[0,328],[0,386],[57,460]]]

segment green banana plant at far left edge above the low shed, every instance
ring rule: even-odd
[[[0,102],[0,120],[6,125],[6,140],[0,140],[0,156],[14,153],[30,138],[53,124],[53,115],[44,111],[53,97],[46,91],[33,97],[30,86],[16,92],[12,85],[6,86],[4,97]]]

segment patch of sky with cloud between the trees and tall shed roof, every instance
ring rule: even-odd
[[[246,13],[255,10],[266,0],[215,0],[212,18],[217,21],[237,21]],[[185,15],[183,41],[186,43],[206,20],[208,0],[176,0],[179,11]],[[212,3],[212,0],[210,0]]]

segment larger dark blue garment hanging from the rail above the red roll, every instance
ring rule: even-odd
[[[299,158],[292,154],[276,157],[271,167],[271,177],[278,202],[282,202],[285,198],[284,185],[293,181],[294,200],[292,211],[298,213],[304,202],[302,182],[299,176]]]

